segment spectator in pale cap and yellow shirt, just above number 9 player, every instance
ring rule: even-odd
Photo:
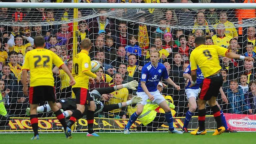
[[[217,34],[212,36],[213,44],[228,48],[229,41],[232,37],[225,34],[225,26],[223,24],[218,24],[216,27]]]

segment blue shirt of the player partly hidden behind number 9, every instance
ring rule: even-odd
[[[184,71],[184,74],[191,74],[191,68],[190,65],[188,65],[188,67],[186,68],[186,70]],[[188,85],[186,86],[186,89],[199,89],[200,84],[204,81],[204,75],[201,71],[201,69],[197,66],[197,70],[196,70],[196,85],[194,85],[193,87],[189,87],[191,82],[189,80]]]

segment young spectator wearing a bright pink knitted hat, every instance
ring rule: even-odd
[[[173,41],[173,38],[172,38],[172,34],[167,32],[164,34],[164,45],[163,45],[163,49],[166,49],[169,54],[172,53],[173,51],[173,48],[175,47],[178,47],[174,41]]]

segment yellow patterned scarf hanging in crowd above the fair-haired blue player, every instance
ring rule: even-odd
[[[147,49],[149,46],[148,30],[146,25],[139,25],[139,46],[143,49]]]

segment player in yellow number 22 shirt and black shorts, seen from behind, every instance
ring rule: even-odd
[[[62,60],[52,51],[44,49],[45,40],[41,36],[34,39],[36,49],[27,52],[25,61],[22,66],[22,84],[24,95],[28,96],[28,86],[26,84],[27,71],[30,71],[30,88],[29,88],[29,103],[30,103],[30,123],[34,131],[34,137],[31,139],[39,139],[38,134],[38,118],[36,108],[42,101],[48,101],[52,111],[62,124],[66,137],[71,136],[71,130],[68,128],[65,118],[56,105],[56,97],[54,90],[54,79],[52,73],[52,65],[62,68],[70,78],[70,85],[75,84],[70,71]]]

